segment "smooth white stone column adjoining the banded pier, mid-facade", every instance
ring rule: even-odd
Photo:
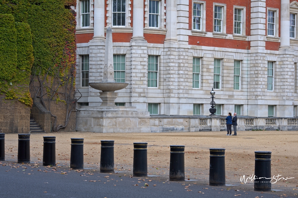
[[[178,42],[177,40],[177,0],[166,2],[165,42]]]

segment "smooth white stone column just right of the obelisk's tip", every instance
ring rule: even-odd
[[[144,2],[133,1],[133,37],[132,39],[144,40]]]

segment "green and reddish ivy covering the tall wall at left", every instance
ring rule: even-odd
[[[75,4],[0,0],[0,94],[4,102],[18,100],[30,107],[32,98],[40,98],[51,111],[53,131],[66,127],[76,102]],[[58,116],[51,102],[64,105]]]

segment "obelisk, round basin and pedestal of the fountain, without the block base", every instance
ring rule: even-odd
[[[128,83],[116,83],[114,80],[113,40],[112,29],[110,27],[106,30],[104,64],[102,82],[89,83],[89,86],[102,91],[102,93],[100,93],[100,98],[102,99],[101,106],[116,106],[115,100],[118,97],[118,93],[115,93],[115,91],[124,89],[127,87]]]

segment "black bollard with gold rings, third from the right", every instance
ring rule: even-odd
[[[185,180],[184,145],[170,145],[170,181]]]

